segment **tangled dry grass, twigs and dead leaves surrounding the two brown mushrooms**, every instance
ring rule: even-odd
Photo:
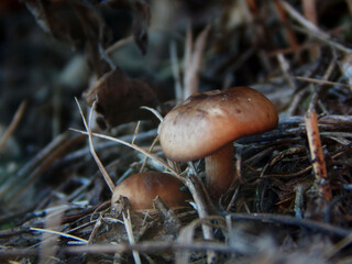
[[[0,261],[352,262],[351,10],[1,1]],[[158,125],[189,94],[234,86],[264,94],[279,122],[233,143],[238,178],[213,199],[205,161],[167,161]],[[179,179],[185,205],[111,206],[114,186],[151,170]]]

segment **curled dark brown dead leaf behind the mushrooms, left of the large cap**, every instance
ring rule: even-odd
[[[111,127],[150,119],[152,114],[140,108],[158,105],[156,94],[146,81],[130,79],[120,68],[105,74],[84,98],[90,106],[97,99],[96,111]]]

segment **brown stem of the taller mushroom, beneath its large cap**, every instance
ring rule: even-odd
[[[235,178],[233,153],[233,143],[229,143],[205,158],[206,184],[209,194],[213,198],[219,198],[223,195]]]

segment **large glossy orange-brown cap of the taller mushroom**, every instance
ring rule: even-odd
[[[166,114],[160,141],[177,162],[208,156],[226,144],[276,128],[274,105],[250,87],[197,92]]]

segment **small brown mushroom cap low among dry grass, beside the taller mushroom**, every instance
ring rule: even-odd
[[[168,207],[186,205],[183,183],[174,176],[160,172],[134,174],[116,186],[111,204],[124,196],[134,210],[153,209],[153,199],[160,196]]]

